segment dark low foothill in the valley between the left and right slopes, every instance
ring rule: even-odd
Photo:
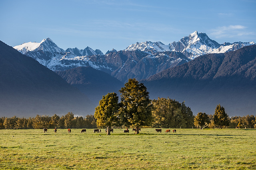
[[[102,96],[112,92],[119,95],[118,90],[124,86],[117,78],[90,66],[56,71],[56,73],[66,80],[66,82],[86,94],[95,107],[97,107],[99,101],[102,100]]]

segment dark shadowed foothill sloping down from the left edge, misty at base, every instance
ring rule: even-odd
[[[0,41],[0,117],[93,114],[92,102],[52,70]]]

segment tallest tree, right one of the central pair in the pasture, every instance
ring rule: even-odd
[[[135,133],[138,134],[139,127],[148,126],[152,122],[149,92],[144,84],[139,84],[135,78],[129,79],[119,92],[121,93],[119,118],[124,125],[135,127]]]

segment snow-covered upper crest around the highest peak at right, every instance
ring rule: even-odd
[[[132,44],[125,50],[141,50],[149,53],[157,53],[163,51],[180,51],[189,59],[195,59],[200,55],[206,55],[209,53],[226,53],[228,51],[235,51],[242,47],[253,45],[254,42],[242,43],[224,43],[219,44],[216,41],[210,39],[206,33],[198,33],[195,31],[188,36],[183,37],[178,42],[164,45],[161,42],[146,41],[142,43]]]

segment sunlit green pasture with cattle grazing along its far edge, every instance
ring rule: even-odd
[[[256,169],[256,129],[165,130],[0,130],[0,169]]]

